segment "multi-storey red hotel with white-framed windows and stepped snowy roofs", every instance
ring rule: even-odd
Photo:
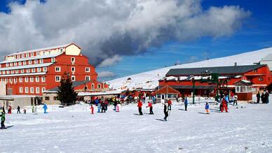
[[[97,82],[95,67],[81,54],[81,48],[70,43],[8,54],[0,62],[0,94],[42,95],[60,85],[64,72],[74,82],[86,80],[85,90],[108,88]]]

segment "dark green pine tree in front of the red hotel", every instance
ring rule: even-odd
[[[65,72],[60,80],[60,86],[58,86],[57,99],[63,105],[72,105],[76,101],[76,96],[77,93],[74,92],[74,87],[72,87],[70,75]]]

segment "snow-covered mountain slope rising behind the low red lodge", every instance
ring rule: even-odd
[[[216,59],[209,59],[205,61],[198,61],[189,64],[182,64],[177,66],[170,66],[159,68],[154,71],[147,71],[144,73],[137,73],[135,75],[128,75],[123,78],[117,78],[107,81],[112,89],[154,89],[158,86],[158,80],[165,77],[165,74],[171,68],[196,68],[196,67],[212,67],[212,66],[234,66],[237,65],[250,65],[261,61],[267,54],[272,54],[272,48],[265,48],[252,52],[245,52],[236,54],[229,57],[220,57]]]

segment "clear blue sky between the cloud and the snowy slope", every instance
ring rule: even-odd
[[[7,6],[10,2],[13,1],[1,0],[0,11],[10,13],[11,10]],[[17,2],[21,5],[25,4],[25,0]],[[41,2],[47,3],[44,0]],[[118,63],[97,68],[97,71],[111,71],[115,73],[112,78],[120,78],[132,73],[172,66],[177,61],[179,63],[188,63],[272,47],[272,1],[203,0],[201,6],[204,10],[212,6],[240,6],[244,10],[249,10],[251,15],[245,20],[243,26],[231,36],[220,38],[202,37],[182,43],[167,41],[157,48],[148,48],[147,52],[124,55]],[[100,78],[100,80],[110,80],[112,78]]]

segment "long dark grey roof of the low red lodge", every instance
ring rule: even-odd
[[[239,75],[253,71],[266,65],[247,65],[247,66],[217,66],[217,67],[203,67],[203,68],[172,68],[166,76],[177,75],[201,75],[205,71],[210,73],[218,73],[219,75]]]

